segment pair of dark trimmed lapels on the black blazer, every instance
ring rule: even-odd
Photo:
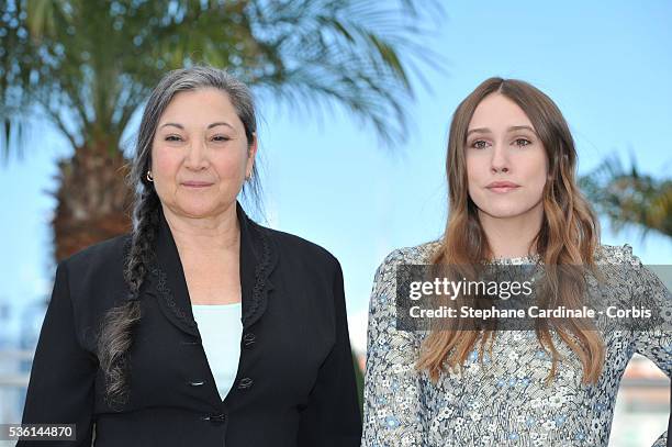
[[[266,311],[268,294],[273,289],[269,277],[276,267],[278,253],[268,230],[249,220],[239,202],[236,202],[236,214],[240,224],[242,321],[245,329]],[[160,208],[154,253],[146,293],[158,298],[161,312],[175,326],[200,338],[179,252]]]

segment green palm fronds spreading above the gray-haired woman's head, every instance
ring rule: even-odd
[[[0,145],[21,147],[22,126],[45,113],[72,147],[105,139],[114,150],[161,75],[198,63],[292,111],[338,104],[383,142],[400,141],[408,70],[438,67],[419,45],[414,3],[0,0]]]

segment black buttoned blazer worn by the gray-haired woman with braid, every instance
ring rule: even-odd
[[[141,289],[128,353],[130,400],[103,400],[97,331],[128,290],[130,235],[59,262],[31,371],[23,423],[77,424],[77,443],[23,446],[348,447],[360,445],[343,273],[328,252],[262,227],[237,204],[243,337],[224,401],[216,390],[175,241],[161,215],[157,262]]]

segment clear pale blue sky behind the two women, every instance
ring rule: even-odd
[[[445,9],[447,20],[425,43],[445,58],[447,72],[424,71],[432,91],[416,83],[417,99],[406,105],[413,123],[394,152],[343,110],[320,122],[272,98],[258,104],[269,223],[338,257],[356,345],[382,258],[443,231],[450,116],[485,78],[527,80],[558,103],[580,174],[614,153],[624,161],[634,153],[653,176],[672,167],[672,3],[479,1]],[[0,302],[32,302],[51,291],[55,203],[47,191],[56,159],[68,150],[52,126],[36,122],[24,160],[0,167]],[[641,242],[638,234],[613,234],[603,221],[603,243],[629,243],[646,264],[670,264],[670,239],[651,234]]]

